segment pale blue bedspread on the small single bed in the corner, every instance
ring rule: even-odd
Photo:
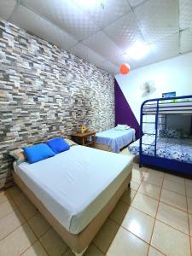
[[[96,143],[108,145],[114,153],[135,140],[135,129],[117,131],[114,128],[96,133]]]

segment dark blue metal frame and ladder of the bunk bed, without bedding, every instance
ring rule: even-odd
[[[139,166],[143,166],[143,165],[149,165],[149,166],[157,166],[160,168],[164,168],[170,171],[174,171],[177,172],[178,174],[182,173],[182,174],[186,174],[187,176],[192,177],[192,164],[190,163],[186,163],[186,162],[182,162],[179,160],[170,160],[170,159],[166,159],[166,158],[162,158],[157,156],[157,137],[158,137],[158,127],[159,125],[165,125],[166,127],[166,117],[167,115],[171,115],[171,114],[189,114],[192,116],[192,102],[191,104],[188,106],[188,108],[186,108],[185,104],[181,104],[183,102],[187,102],[186,100],[189,99],[189,102],[192,100],[192,96],[177,96],[177,97],[166,97],[166,98],[156,98],[156,99],[152,99],[152,100],[147,100],[145,102],[143,102],[142,106],[141,106],[141,112],[140,112],[140,143],[139,143]],[[181,102],[167,102],[167,101],[172,101],[172,100],[183,100]],[[184,101],[185,100],[185,101]],[[148,102],[150,103],[155,103],[155,107],[149,107],[148,106],[153,106],[152,104],[148,104]],[[163,103],[162,103],[163,102]],[[166,107],[166,105],[163,106],[163,104],[167,104],[169,103],[169,107]],[[179,103],[179,104],[177,104]],[[171,105],[171,106],[170,106]],[[179,105],[179,106],[177,106]],[[146,106],[149,110],[148,113],[146,113]],[[160,111],[162,111],[163,108],[163,113],[160,113]],[[172,113],[170,112],[170,109],[168,108],[178,108],[177,110],[172,110]],[[153,109],[153,110],[152,110]],[[174,113],[174,112],[177,113]],[[150,113],[153,112],[153,113]],[[183,113],[184,112],[184,113]],[[143,122],[143,116],[144,115],[155,115],[155,122]],[[165,117],[165,123],[160,124],[159,123],[159,117],[160,115],[164,115]],[[150,146],[154,147],[154,155],[147,155],[147,154],[143,154],[143,145],[145,143],[143,143],[143,135],[144,134],[149,134],[147,132],[143,132],[143,124],[154,124],[154,144],[151,144]]]

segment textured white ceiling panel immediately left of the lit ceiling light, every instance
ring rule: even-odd
[[[102,31],[96,32],[96,34],[90,38],[85,39],[82,41],[82,44],[93,49],[96,53],[104,56],[105,58],[110,58],[123,53],[122,50],[120,50]]]

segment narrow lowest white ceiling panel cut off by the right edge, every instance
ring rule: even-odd
[[[192,51],[192,31],[187,29],[180,33],[180,52],[189,51]]]

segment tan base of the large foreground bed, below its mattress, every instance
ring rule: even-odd
[[[44,207],[44,204],[38,200],[36,195],[27,188],[26,184],[22,182],[20,177],[13,172],[15,183],[20,187],[20,189],[26,194],[26,196],[32,201],[32,203],[38,208],[38,211],[42,213],[44,218],[47,219],[49,224],[53,229],[61,236],[63,241],[72,249],[75,255],[83,255],[86,248],[90,245],[90,242],[93,240],[96,233],[102,227],[102,224],[108,218],[110,212],[119,201],[119,198],[128,187],[128,184],[131,183],[131,171],[132,164],[127,167],[129,170],[129,175],[125,178],[124,182],[119,186],[119,189],[113,195],[113,197],[108,201],[108,204],[102,208],[102,211],[99,212],[94,219],[82,230],[79,234],[75,235],[66,230],[56,219],[55,217]]]

